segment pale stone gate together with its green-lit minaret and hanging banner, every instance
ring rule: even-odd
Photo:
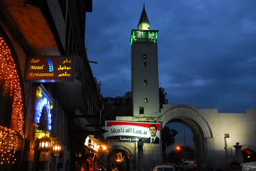
[[[256,109],[245,109],[245,113],[218,113],[218,109],[201,109],[195,105],[163,105],[159,110],[158,30],[150,30],[145,6],[137,30],[131,32],[131,116],[116,116],[114,121],[106,122],[106,129],[112,137],[106,136],[112,144],[104,163],[113,162],[116,154],[125,156],[123,164],[116,161],[121,171],[149,171],[161,164],[161,139],[159,144],[128,142],[129,129],[126,125],[137,123],[160,123],[160,130],[168,123],[178,122],[189,127],[195,143],[195,159],[198,170],[204,171],[218,167],[228,168],[232,161],[256,161]],[[121,112],[121,111],[120,111]],[[118,126],[113,123],[118,122]],[[142,127],[142,126],[141,126]],[[175,129],[175,128],[174,128]],[[124,129],[125,130],[125,129]],[[145,131],[146,134],[146,131]],[[115,135],[120,135],[117,139]],[[138,135],[138,139],[143,137]],[[126,142],[123,142],[126,141]],[[143,150],[141,150],[143,149]]]

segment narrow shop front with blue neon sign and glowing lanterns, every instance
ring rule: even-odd
[[[51,155],[57,156],[60,152],[53,152],[57,137],[52,137],[54,100],[50,91],[50,89],[47,91],[43,85],[36,87],[34,110],[34,138],[36,140],[34,165],[35,168],[39,170],[46,169],[44,165],[49,162],[49,157]],[[57,148],[58,147],[56,147],[56,150]]]

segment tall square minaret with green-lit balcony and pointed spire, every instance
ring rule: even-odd
[[[134,117],[160,114],[157,33],[149,29],[145,4],[137,30],[131,31],[131,92]]]

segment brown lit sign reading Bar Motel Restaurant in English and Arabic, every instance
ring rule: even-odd
[[[28,56],[25,80],[29,82],[74,81],[73,56]]]

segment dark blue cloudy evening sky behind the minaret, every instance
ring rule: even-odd
[[[104,97],[131,91],[129,40],[143,3],[150,29],[159,30],[159,86],[169,104],[256,108],[255,0],[93,0],[85,46]]]

